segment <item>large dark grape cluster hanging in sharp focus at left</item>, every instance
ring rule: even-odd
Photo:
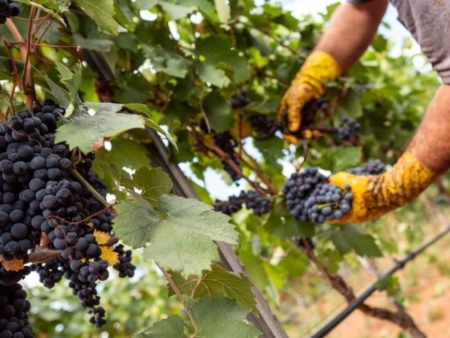
[[[101,326],[105,312],[99,306],[95,287],[97,281],[108,278],[109,272],[95,231],[112,237],[113,215],[73,175],[76,170],[104,197],[105,185],[91,170],[94,155],[80,154],[73,164],[67,145],[55,144],[57,118],[63,114],[64,109],[46,100],[33,112],[22,110],[0,124],[0,255],[6,262],[26,262],[42,242],[61,255],[20,271],[7,271],[0,265],[0,286],[14,285],[31,269],[48,288],[65,277],[92,313],[91,321]],[[120,256],[123,248],[117,248],[114,250]],[[131,276],[131,253],[122,256],[125,258],[119,258],[115,268],[119,274]],[[0,337],[2,334],[0,331]]]

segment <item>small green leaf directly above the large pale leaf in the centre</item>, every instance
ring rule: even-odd
[[[123,186],[130,191],[140,190],[139,194],[153,206],[164,194],[172,191],[173,184],[170,176],[161,168],[150,169],[142,167],[133,174],[133,181],[123,182]]]

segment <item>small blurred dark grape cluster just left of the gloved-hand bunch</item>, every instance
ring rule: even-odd
[[[218,200],[214,204],[214,209],[225,215],[231,215],[241,210],[244,204],[247,209],[252,209],[256,216],[262,216],[270,212],[270,199],[255,190],[241,191],[238,196],[230,196],[228,201]]]

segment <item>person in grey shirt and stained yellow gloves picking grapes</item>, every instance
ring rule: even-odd
[[[330,216],[330,223],[362,223],[380,217],[411,202],[450,167],[450,46],[446,36],[450,1],[391,3],[439,74],[442,85],[407,150],[391,169],[378,175],[339,172],[330,176],[331,185],[350,190],[353,195],[351,210],[339,218]],[[368,48],[387,5],[387,0],[351,0],[336,10],[282,99],[278,115],[287,124],[289,132],[284,137],[288,142],[298,142],[295,133],[301,126],[305,104],[323,96],[324,82],[348,71]],[[295,203],[291,204],[295,208]]]

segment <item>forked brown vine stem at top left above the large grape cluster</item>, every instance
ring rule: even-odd
[[[33,9],[35,9],[35,8],[32,7],[32,13],[34,13]],[[30,18],[31,18],[31,16],[30,16]],[[30,22],[28,25],[29,32],[30,32],[30,26],[32,26],[31,19],[30,19]],[[17,29],[16,25],[9,18],[6,20],[6,27],[8,28],[8,30],[14,37],[14,40],[18,43],[22,61],[25,63],[24,74],[23,74],[23,78],[22,78],[22,80],[23,80],[22,81],[22,90],[25,95],[26,107],[28,109],[32,109],[33,103],[34,103],[34,80],[33,80],[33,73],[32,73],[32,68],[31,68],[31,63],[30,63],[30,58],[29,58],[28,44],[25,43],[25,41],[24,41],[22,35],[20,34],[19,30]],[[29,35],[31,35],[31,34],[29,33]],[[31,36],[29,36],[28,40],[29,40],[28,43],[30,43]]]

